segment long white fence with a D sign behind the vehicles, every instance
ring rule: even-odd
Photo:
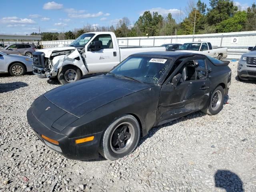
[[[68,46],[73,40],[42,41],[44,48],[56,47],[60,44]],[[208,41],[213,46],[228,48],[228,59],[239,59],[249,46],[256,45],[256,31],[214,33],[200,35],[150,36],[118,38],[119,46],[160,46],[165,43],[185,43]],[[12,44],[9,42],[5,44]],[[26,42],[25,42],[26,43]],[[32,43],[32,42],[30,42]],[[37,41],[34,42],[37,44]]]

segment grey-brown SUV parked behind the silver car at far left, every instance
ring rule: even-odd
[[[33,44],[12,44],[7,47],[5,47],[1,52],[7,53],[7,54],[17,54],[17,55],[24,55],[27,57],[33,57],[33,53],[36,50],[36,46]]]

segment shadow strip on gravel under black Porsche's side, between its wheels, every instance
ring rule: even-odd
[[[186,121],[186,120],[190,120],[190,119],[195,119],[195,118],[199,118],[199,117],[202,117],[202,116],[206,116],[206,114],[204,114],[203,112],[193,112],[191,114],[188,114],[184,117],[181,117],[181,118],[178,118],[176,120],[173,120],[171,122],[168,122],[168,123],[165,123],[165,124],[162,124],[162,125],[158,125],[158,126],[155,126],[153,127],[149,132],[148,134],[143,137],[143,138],[140,138],[140,141],[138,143],[138,146],[140,146],[147,138],[150,138],[152,137],[154,134],[156,134],[156,132],[158,132],[158,130],[160,130],[161,128],[163,127],[166,127],[166,126],[173,126],[175,125],[176,123],[179,123],[179,122],[183,122],[183,121]],[[138,147],[137,146],[137,147]]]

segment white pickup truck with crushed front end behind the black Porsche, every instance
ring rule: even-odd
[[[131,54],[150,51],[165,51],[165,47],[121,48],[113,32],[90,32],[82,34],[67,47],[34,52],[33,73],[58,77],[61,84],[67,84],[86,74],[108,72]]]

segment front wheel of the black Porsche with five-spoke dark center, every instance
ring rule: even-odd
[[[138,121],[132,115],[124,115],[108,126],[102,136],[99,152],[108,160],[116,160],[133,152],[139,140]]]

